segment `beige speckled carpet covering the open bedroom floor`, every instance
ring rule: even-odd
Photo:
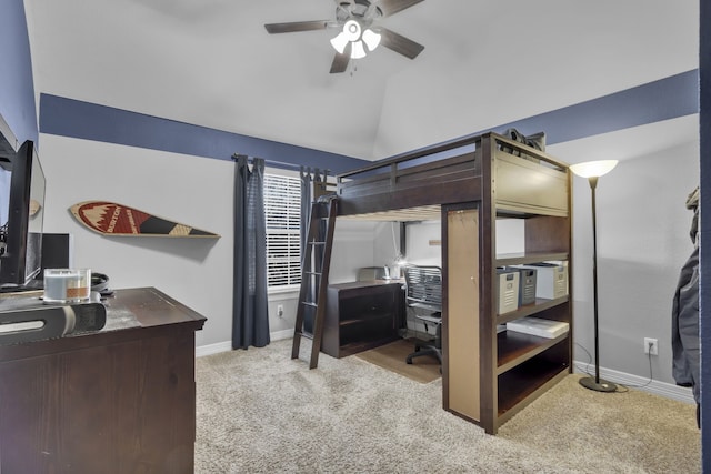
[[[197,361],[196,472],[699,473],[694,406],[644,392],[601,394],[570,375],[498,436],[422,384],[360,357],[291,341]]]

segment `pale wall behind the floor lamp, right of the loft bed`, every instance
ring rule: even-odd
[[[598,282],[600,365],[649,376],[643,339],[659,340],[652,376],[671,376],[671,305],[679,271],[692,251],[687,195],[699,183],[699,143],[620,161],[600,178]],[[573,182],[574,357],[593,351],[592,216],[587,180]]]

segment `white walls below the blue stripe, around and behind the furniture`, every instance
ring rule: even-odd
[[[232,186],[231,162],[154,150],[41,137],[47,174],[47,232],[74,235],[74,264],[107,273],[112,288],[156,286],[208,317],[197,344],[231,337]],[[574,148],[574,143],[570,143]],[[564,150],[563,147],[560,147]],[[555,155],[553,150],[552,154]],[[649,374],[643,337],[659,340],[653,377],[671,379],[671,301],[679,270],[691,252],[688,193],[697,185],[698,142],[627,158],[598,188],[601,365],[639,376]],[[561,157],[564,159],[564,157]],[[68,209],[93,199],[117,201],[222,235],[209,239],[108,238],[82,228]],[[575,179],[573,192],[574,337],[592,351],[590,189]],[[515,251],[521,229],[498,226]],[[398,226],[395,236],[399,242]],[[441,264],[439,222],[408,228],[408,256]],[[411,234],[410,234],[411,233]],[[331,282],[353,281],[361,266],[388,263],[393,251],[390,223],[340,220]],[[417,249],[417,250],[415,250]],[[270,296],[272,332],[293,330],[296,293]],[[284,305],[283,317],[277,304]],[[587,355],[575,346],[575,359]]]

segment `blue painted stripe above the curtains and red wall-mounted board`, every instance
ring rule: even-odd
[[[238,152],[263,158],[276,168],[304,164],[338,173],[368,163],[342,154],[44,93],[40,95],[40,131],[218,160],[231,160],[232,154]]]

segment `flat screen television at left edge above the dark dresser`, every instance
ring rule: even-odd
[[[26,141],[3,163],[0,192],[0,290],[28,285],[42,266],[44,172],[34,143]],[[9,177],[9,186],[7,185]]]

